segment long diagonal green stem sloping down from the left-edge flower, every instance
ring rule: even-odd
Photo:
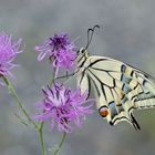
[[[33,124],[33,126],[35,128],[38,128],[37,123],[30,117],[29,113],[27,112],[27,110],[23,107],[22,101],[19,99],[12,83],[4,76],[2,76],[4,83],[7,84],[10,94],[13,96],[13,99],[17,101],[18,107],[22,111],[23,115],[28,118],[28,121]]]

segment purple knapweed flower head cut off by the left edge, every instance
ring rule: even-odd
[[[12,75],[10,70],[17,66],[12,61],[20,51],[21,39],[12,41],[12,37],[0,32],[0,76]]]

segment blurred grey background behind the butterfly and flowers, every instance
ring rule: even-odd
[[[22,38],[24,52],[16,60],[16,89],[34,115],[41,87],[50,78],[46,62],[37,61],[35,44],[54,33],[66,32],[79,48],[86,43],[86,30],[100,24],[90,54],[106,55],[130,63],[155,76],[154,0],[0,0],[0,30]],[[18,108],[7,89],[0,89],[0,155],[40,155],[35,132],[19,123]],[[154,155],[155,110],[136,111],[142,127],[127,123],[112,127],[95,112],[83,127],[68,135],[60,155]],[[61,134],[46,125],[50,147]]]

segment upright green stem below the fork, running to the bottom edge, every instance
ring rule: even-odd
[[[43,125],[44,125],[44,122],[41,122],[41,124],[38,128],[38,133],[39,133],[39,141],[40,141],[40,145],[41,145],[41,155],[46,155],[44,138],[43,138]]]

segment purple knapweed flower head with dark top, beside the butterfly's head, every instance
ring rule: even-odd
[[[55,34],[42,45],[37,45],[35,50],[40,52],[39,61],[48,55],[54,68],[71,69],[74,65],[76,58],[75,46],[68,34]]]

